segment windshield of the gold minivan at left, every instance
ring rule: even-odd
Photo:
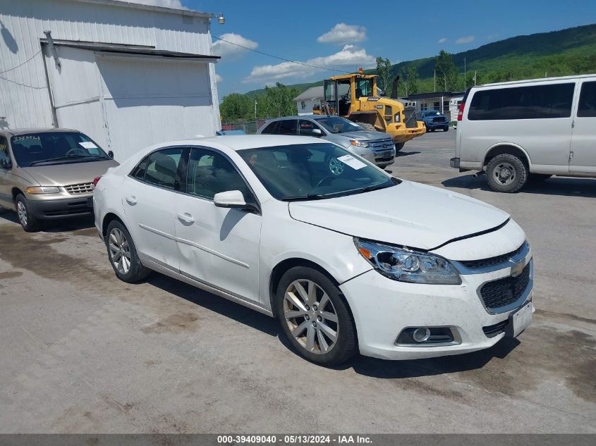
[[[109,159],[90,137],[79,132],[38,132],[11,137],[16,162],[21,167]]]

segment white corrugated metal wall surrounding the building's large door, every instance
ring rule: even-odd
[[[39,39],[135,44],[212,54],[207,18],[76,0],[0,0],[0,127],[50,127],[51,107]],[[48,63],[53,63],[48,58]],[[219,100],[209,64],[212,122]],[[17,68],[15,68],[17,67]],[[81,73],[80,85],[85,87]],[[92,93],[90,93],[92,94]],[[61,124],[61,123],[60,123]]]

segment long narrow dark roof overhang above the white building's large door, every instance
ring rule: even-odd
[[[42,44],[48,44],[47,39],[40,39]],[[145,47],[141,45],[122,45],[106,44],[97,42],[79,42],[75,40],[53,40],[56,47],[70,47],[78,49],[88,49],[102,54],[113,54],[115,56],[140,56],[150,58],[170,58],[186,61],[217,63],[220,56],[206,54],[179,53],[178,51],[167,51],[164,49],[155,49],[155,47]]]

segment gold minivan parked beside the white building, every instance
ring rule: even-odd
[[[88,216],[93,180],[118,166],[78,130],[0,130],[0,206],[27,232],[39,221]]]

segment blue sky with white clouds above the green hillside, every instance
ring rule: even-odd
[[[224,13],[225,25],[213,20],[214,36],[339,71],[370,68],[377,56],[397,63],[433,56],[440,49],[457,53],[507,37],[596,22],[596,0],[145,1]],[[222,56],[216,65],[220,97],[277,80],[293,84],[332,75],[225,42],[214,43],[214,54]]]

